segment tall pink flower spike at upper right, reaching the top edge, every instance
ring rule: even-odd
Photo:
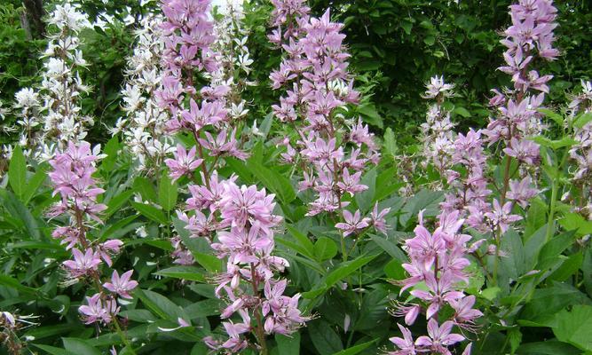
[[[551,0],[521,0],[509,8],[512,25],[505,30],[506,38],[501,41],[507,48],[503,53],[506,65],[499,70],[512,76],[514,88],[506,90],[506,94],[493,90],[495,96],[490,104],[499,109],[499,116],[483,133],[490,144],[501,140],[504,153],[528,168],[540,158],[539,146],[526,138],[544,129],[538,109],[553,77],[539,75],[529,66],[537,57],[554,60],[558,55],[553,48],[556,8]]]

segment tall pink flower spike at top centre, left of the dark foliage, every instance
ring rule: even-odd
[[[367,189],[360,183],[361,175],[369,163],[376,164],[380,157],[367,125],[361,120],[348,125],[343,114],[338,113],[339,108],[357,102],[359,97],[347,72],[349,54],[343,50],[343,25],[331,22],[328,11],[320,19],[309,19],[303,2],[274,4],[275,22],[291,19],[298,26],[297,30],[290,29],[289,36],[280,36],[280,29],[271,36],[272,41],[278,36],[288,38],[282,46],[287,56],[270,76],[273,89],[286,86],[288,91],[280,98],[280,105],[272,106],[273,112],[281,122],[302,126],[296,127],[296,146],[289,138],[281,142],[287,149],[282,159],[289,164],[301,163],[304,180],[298,190],[312,189],[316,193],[316,199],[309,203],[309,216],[338,213],[349,204],[345,195],[352,197]],[[351,228],[367,225],[363,220],[350,222],[341,225],[345,235],[351,233]],[[354,226],[354,222],[359,223]]]

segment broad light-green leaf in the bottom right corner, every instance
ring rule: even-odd
[[[553,333],[564,343],[571,343],[582,351],[592,351],[592,306],[578,304],[571,312],[557,313]]]

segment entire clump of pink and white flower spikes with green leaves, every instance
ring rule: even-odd
[[[491,99],[425,73],[412,143],[370,108],[384,82],[360,73],[354,4],[153,3],[108,25],[60,4],[45,67],[62,75],[18,92],[31,133],[0,164],[8,353],[592,351],[592,84],[554,99],[551,0],[509,4],[481,68],[501,78]],[[111,121],[78,97],[82,70],[50,67],[85,67],[78,37],[105,26],[133,40]],[[37,127],[51,112],[84,133]]]

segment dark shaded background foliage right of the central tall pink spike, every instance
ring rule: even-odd
[[[455,120],[466,128],[483,126],[489,90],[508,84],[501,65],[499,31],[509,23],[510,1],[360,0],[315,1],[313,12],[330,6],[345,24],[354,68],[377,81],[376,111],[395,131],[417,132],[422,122],[423,85],[431,75],[445,75],[457,85]],[[592,63],[592,4],[556,2],[557,47],[562,57],[541,69],[553,74],[551,99],[580,78],[589,78]]]

